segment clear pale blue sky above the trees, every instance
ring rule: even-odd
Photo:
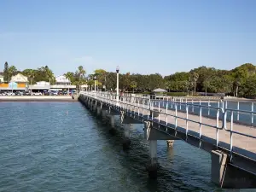
[[[0,0],[0,71],[161,73],[256,64],[255,0]]]

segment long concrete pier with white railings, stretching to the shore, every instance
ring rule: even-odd
[[[115,129],[113,116],[119,115],[125,125],[124,149],[131,144],[130,125],[143,124],[144,138],[150,147],[150,160],[145,165],[148,177],[157,177],[157,140],[166,140],[169,147],[175,140],[182,140],[211,154],[213,183],[225,189],[256,188],[253,108],[249,111],[227,108],[226,103],[219,101],[211,106],[106,92],[81,92],[79,101],[96,115],[108,117],[110,131]],[[242,115],[251,116],[249,122],[242,121]]]

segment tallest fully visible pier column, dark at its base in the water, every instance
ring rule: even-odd
[[[157,169],[158,169],[158,162],[157,162],[157,140],[149,140],[149,154],[150,160],[148,162],[147,171],[148,177],[156,178],[157,177]]]

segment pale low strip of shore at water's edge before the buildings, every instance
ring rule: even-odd
[[[0,96],[0,102],[79,102],[79,96]]]

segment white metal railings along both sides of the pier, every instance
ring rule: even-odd
[[[117,96],[115,94],[109,94],[109,93],[103,93],[103,92],[84,92],[82,93],[85,96],[90,96],[92,98],[95,98],[96,100],[100,102],[105,102],[108,105],[114,106],[115,108],[122,108],[126,112],[130,113],[130,115],[139,116],[143,118],[144,120],[153,120],[154,122],[158,123],[159,125],[165,125],[166,126],[166,132],[168,128],[172,128],[168,125],[168,118],[173,117],[174,118],[174,130],[175,134],[177,133],[177,119],[183,119],[186,122],[186,141],[189,134],[189,122],[193,122],[195,124],[199,125],[199,139],[200,139],[200,147],[201,147],[201,136],[202,136],[202,125],[206,125],[208,127],[211,127],[213,129],[216,129],[216,146],[218,148],[219,145],[219,131],[224,130],[230,132],[230,161],[232,160],[232,154],[233,154],[233,135],[241,135],[243,137],[251,137],[253,139],[256,139],[253,135],[249,135],[246,133],[243,133],[241,131],[234,131],[234,113],[236,114],[249,114],[252,117],[252,124],[253,124],[253,115],[256,114],[256,112],[248,110],[241,110],[241,109],[233,109],[233,108],[227,108],[228,103],[222,102],[222,105],[220,105],[220,102],[218,102],[217,107],[212,107],[211,105],[202,105],[201,102],[199,104],[195,104],[193,102],[177,102],[177,101],[165,101],[165,104],[160,103],[158,100],[151,100],[147,96],[119,96],[119,102],[117,102]],[[239,103],[239,102],[238,102]],[[161,105],[162,104],[162,105]],[[224,108],[225,105],[225,108]],[[171,106],[171,109],[169,108]],[[182,106],[185,108],[185,111],[179,111],[182,113],[185,113],[185,117],[178,116],[178,107],[180,110],[182,109]],[[239,106],[239,104],[238,104]],[[252,104],[253,106],[253,104]],[[172,110],[174,108],[174,114],[168,113],[169,110]],[[195,119],[189,119],[189,108],[199,108],[199,120]],[[209,125],[202,122],[202,109],[207,108],[208,110],[215,110],[216,111],[216,122],[215,125]],[[239,107],[238,107],[239,108]],[[165,109],[165,112],[163,112],[161,109]],[[144,115],[144,111],[147,112],[146,115]],[[154,118],[154,111],[158,112],[158,119]],[[137,113],[137,114],[136,114]],[[228,113],[230,113],[230,119],[228,119]],[[146,116],[146,117],[145,117]],[[131,116],[132,117],[132,116]],[[165,117],[165,123],[163,124],[160,121],[160,117]],[[219,125],[219,122],[222,123],[222,125]],[[228,123],[230,123],[230,129],[227,128]]]

